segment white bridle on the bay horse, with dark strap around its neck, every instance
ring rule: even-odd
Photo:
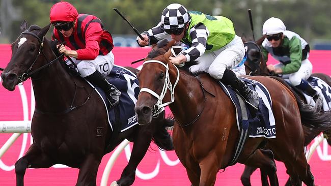
[[[158,64],[161,64],[164,67],[166,67],[166,77],[164,77],[164,84],[163,84],[163,88],[162,88],[162,92],[161,92],[160,96],[155,91],[153,91],[153,90],[151,90],[149,88],[145,88],[144,87],[144,88],[141,88],[140,89],[140,92],[146,91],[146,92],[148,92],[149,94],[153,95],[154,97],[156,97],[158,99],[158,101],[154,105],[154,108],[153,108],[154,110],[152,111],[153,117],[156,117],[159,113],[161,113],[164,110],[164,107],[166,107],[167,105],[170,105],[171,103],[173,103],[175,101],[175,87],[176,87],[176,85],[177,85],[177,83],[179,81],[179,70],[176,67],[176,65],[173,64],[175,66],[176,70],[177,70],[177,78],[176,78],[176,82],[174,83],[174,86],[173,86],[171,84],[171,82],[170,82],[169,66],[168,66],[168,64],[165,65],[164,63],[162,63],[162,61],[159,61],[159,60],[147,60],[147,61],[144,62],[143,65],[145,65],[147,63],[158,63]],[[192,121],[190,121],[189,123],[187,123],[185,125],[180,125],[179,124],[179,121],[177,120],[179,127],[187,127],[187,126],[191,125],[192,123],[196,122],[198,120],[198,118],[200,117],[201,113],[203,112],[205,106],[206,106],[206,99],[207,98],[206,98],[206,95],[205,95],[205,89],[203,87],[202,82],[199,80],[199,78],[197,78],[197,79],[198,79],[198,81],[200,83],[200,86],[201,86],[202,92],[203,92],[203,96],[204,96],[204,99],[205,99],[204,106],[201,109],[201,111],[199,112],[199,114]],[[166,95],[168,89],[170,90],[171,101],[162,104],[162,100],[163,100],[164,96]],[[176,118],[175,118],[175,120],[176,120]]]

